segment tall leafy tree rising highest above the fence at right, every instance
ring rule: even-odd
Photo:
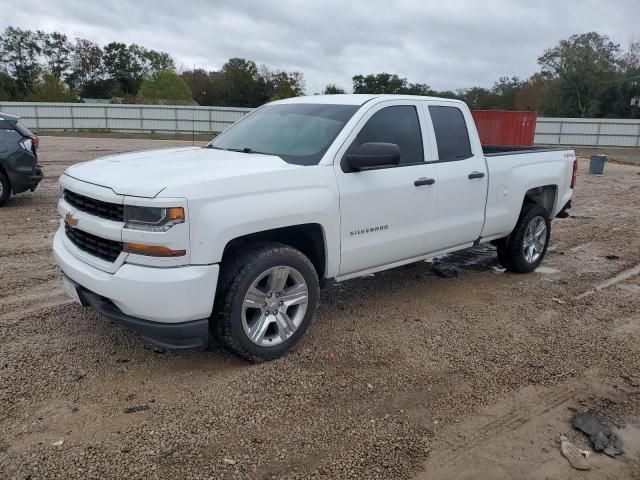
[[[580,117],[603,111],[602,95],[610,87],[620,46],[596,32],[573,35],[538,58],[542,74],[553,80],[558,111]]]

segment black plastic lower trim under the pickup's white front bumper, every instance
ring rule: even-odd
[[[122,312],[111,300],[76,284],[84,306],[95,308],[102,315],[138,332],[154,345],[170,350],[204,350],[209,342],[209,319],[181,323],[161,323],[132,317]]]

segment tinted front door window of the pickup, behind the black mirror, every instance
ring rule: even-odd
[[[422,132],[416,107],[397,105],[374,113],[358,133],[351,144],[351,149],[370,142],[398,145],[400,165],[424,162]]]

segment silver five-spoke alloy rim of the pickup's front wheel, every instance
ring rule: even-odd
[[[260,274],[242,302],[242,328],[260,347],[275,347],[300,327],[309,305],[309,289],[302,274],[279,265]]]

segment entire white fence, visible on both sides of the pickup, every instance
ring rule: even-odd
[[[221,132],[250,108],[85,103],[0,102],[0,111],[19,115],[35,131],[131,133]],[[640,147],[640,120],[538,118],[540,145]]]

